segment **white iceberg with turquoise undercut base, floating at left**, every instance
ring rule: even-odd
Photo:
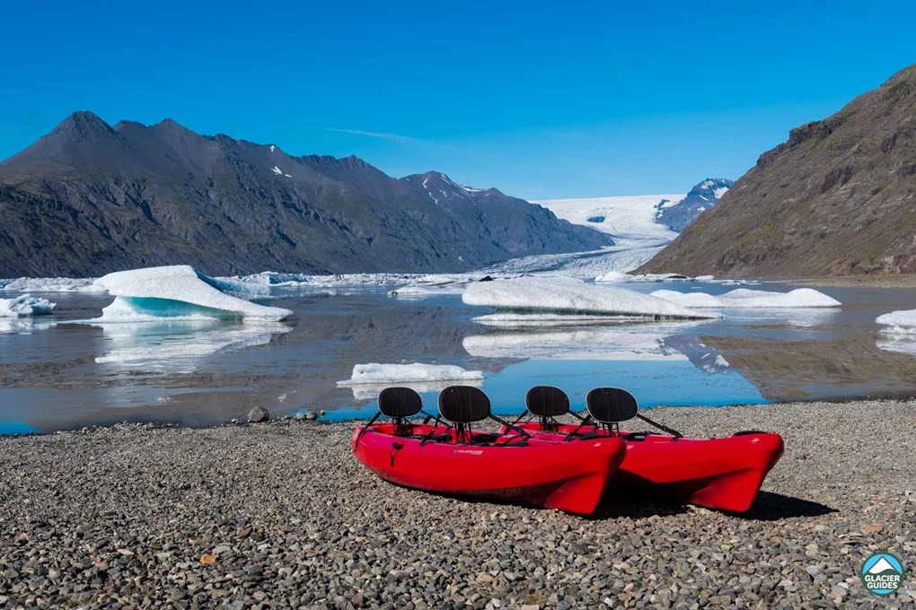
[[[90,322],[144,322],[169,319],[283,320],[289,309],[257,305],[229,294],[244,286],[214,280],[188,265],[109,273],[95,281],[114,295],[102,317]],[[252,294],[257,296],[257,294]]]

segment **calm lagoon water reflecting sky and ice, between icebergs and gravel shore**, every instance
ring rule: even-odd
[[[649,292],[661,284],[626,285]],[[542,383],[561,387],[580,408],[599,385],[626,388],[643,406],[916,393],[916,338],[885,336],[874,323],[916,307],[916,290],[819,290],[844,307],[538,327],[478,324],[473,318],[492,310],[463,305],[458,294],[408,300],[376,287],[277,294],[272,303],[295,315],[267,325],[73,324],[99,316],[111,297],[49,294],[55,316],[0,322],[0,434],[123,421],[207,425],[242,418],[256,404],[273,416],[307,409],[368,416],[379,388],[336,385],[367,362],[483,370],[482,387],[501,413],[520,412],[525,391]],[[434,408],[438,386],[420,390]]]

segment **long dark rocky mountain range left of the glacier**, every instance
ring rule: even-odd
[[[611,239],[495,188],[76,112],[0,163],[0,277],[452,272]]]

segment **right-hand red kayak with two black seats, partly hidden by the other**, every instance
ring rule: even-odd
[[[733,512],[750,508],[784,448],[779,434],[758,431],[725,438],[684,438],[639,415],[633,395],[616,388],[590,391],[586,397],[588,417],[577,424],[553,419],[569,412],[569,398],[557,388],[532,388],[526,406],[538,419],[517,424],[539,438],[614,437],[626,441],[626,457],[608,487],[638,488],[658,498],[707,508]],[[619,429],[619,423],[634,417],[668,433]]]

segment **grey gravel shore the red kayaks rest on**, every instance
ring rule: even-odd
[[[351,423],[0,439],[0,606],[916,605],[916,402],[654,409],[782,433],[749,513],[608,498],[592,519],[394,487]],[[889,551],[908,591],[868,594]]]

